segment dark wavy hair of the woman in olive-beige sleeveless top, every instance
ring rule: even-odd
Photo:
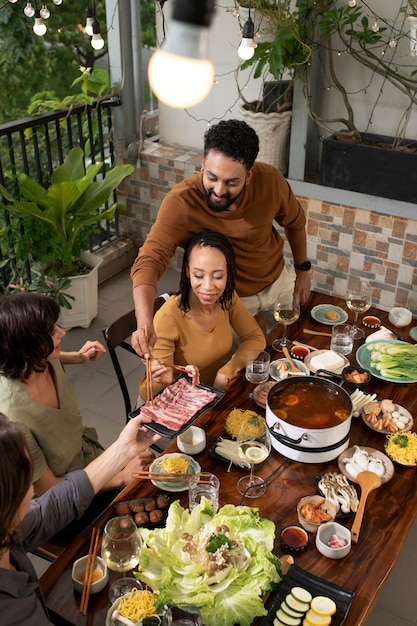
[[[40,293],[21,291],[0,298],[0,373],[27,380],[43,372],[53,352],[59,305]]]

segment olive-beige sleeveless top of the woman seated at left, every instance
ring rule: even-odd
[[[104,450],[96,430],[82,424],[74,390],[59,359],[52,359],[50,366],[59,409],[31,400],[23,383],[0,375],[0,411],[24,427],[34,461],[33,481],[48,467],[55,476],[83,469]]]

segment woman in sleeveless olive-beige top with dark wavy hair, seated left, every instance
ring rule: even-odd
[[[39,293],[0,298],[0,411],[24,427],[34,461],[36,495],[61,482],[67,472],[84,468],[102,454],[94,428],[84,426],[71,382],[60,358],[81,362],[97,358],[99,342],[79,352],[61,353],[65,331],[57,325],[59,306]],[[112,477],[106,489],[124,486],[134,469],[153,459],[151,451]]]

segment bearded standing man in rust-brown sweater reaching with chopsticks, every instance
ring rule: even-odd
[[[158,280],[176,248],[185,248],[201,230],[219,231],[230,240],[236,291],[253,315],[272,311],[279,297],[294,290],[301,304],[308,300],[304,211],[284,176],[256,161],[258,151],[258,136],[246,122],[219,122],[205,134],[201,172],[175,185],[162,201],[131,270],[138,325],[132,345],[139,355],[147,358],[156,341]],[[275,223],[285,231],[294,267],[284,262],[284,240]]]

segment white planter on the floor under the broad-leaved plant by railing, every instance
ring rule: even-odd
[[[91,272],[82,276],[72,276],[71,287],[65,290],[75,298],[71,300],[71,309],[61,307],[58,324],[65,330],[70,330],[74,326],[88,328],[97,316],[98,268],[103,259],[91,252],[82,252],[80,259],[91,267]]]

